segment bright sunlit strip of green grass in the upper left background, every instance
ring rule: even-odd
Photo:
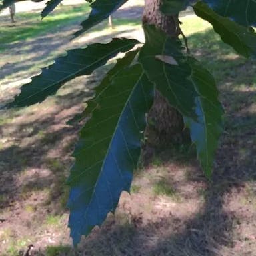
[[[79,25],[89,13],[88,5],[63,6],[53,14],[41,20],[39,13],[17,13],[17,23],[15,26],[0,26],[0,51],[7,49],[7,43],[17,43],[19,41],[33,39],[48,33],[49,31],[59,32],[61,27]],[[116,31],[118,27],[127,29],[141,24],[140,19],[113,19],[113,30],[109,28],[107,21],[103,21],[92,29],[93,32],[110,33]]]

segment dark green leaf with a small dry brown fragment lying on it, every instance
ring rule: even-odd
[[[139,62],[149,80],[183,115],[194,115],[197,93],[189,80],[191,67],[182,53],[181,41],[168,37],[152,25],[145,25],[144,31],[146,43],[139,53]],[[160,60],[167,56],[173,57],[177,65]]]

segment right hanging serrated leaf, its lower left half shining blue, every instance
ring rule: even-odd
[[[191,57],[188,62],[192,68],[190,79],[199,97],[195,98],[197,120],[184,117],[184,121],[190,129],[201,167],[210,177],[219,136],[223,131],[223,108],[218,101],[219,93],[211,73]]]

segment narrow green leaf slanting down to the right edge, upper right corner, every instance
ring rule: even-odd
[[[256,56],[256,33],[253,28],[243,27],[228,18],[217,15],[202,2],[193,6],[195,14],[213,25],[223,42],[231,45],[237,53]],[[256,13],[255,13],[256,16]]]

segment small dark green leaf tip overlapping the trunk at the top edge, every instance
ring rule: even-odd
[[[185,10],[187,5],[189,5],[189,0],[163,0],[160,9],[166,15],[175,15]]]

